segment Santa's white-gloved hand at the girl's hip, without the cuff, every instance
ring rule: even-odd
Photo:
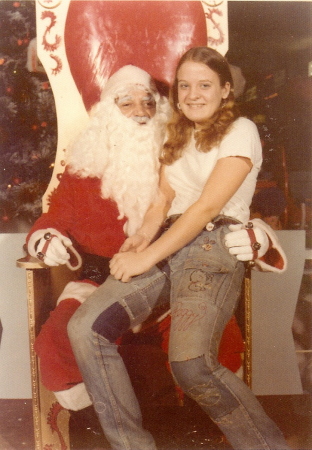
[[[252,221],[246,225],[230,225],[231,233],[225,236],[225,245],[231,255],[235,255],[240,261],[252,261],[263,256],[270,241],[264,230],[254,226]]]

